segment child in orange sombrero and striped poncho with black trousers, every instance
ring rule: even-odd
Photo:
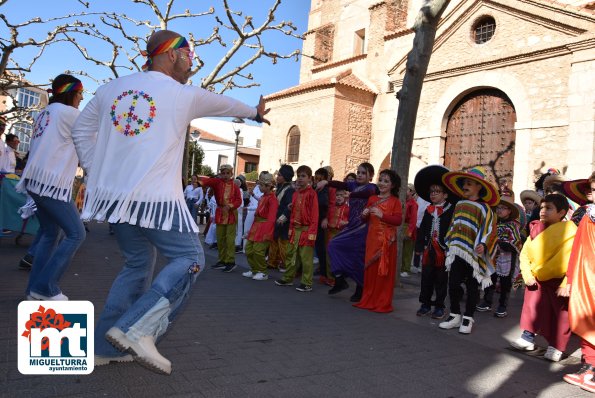
[[[500,195],[496,187],[486,180],[482,167],[474,167],[468,172],[448,172],[442,176],[442,182],[464,200],[455,206],[446,234],[450,315],[438,326],[441,329],[459,328],[459,333],[469,334],[479,301],[479,288],[492,284],[497,229],[496,217],[490,207],[498,204]],[[461,283],[465,283],[467,290],[464,314],[461,314],[460,304],[463,296]]]

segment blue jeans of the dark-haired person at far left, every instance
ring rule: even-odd
[[[29,195],[37,205],[39,239],[36,238],[37,247],[26,294],[35,292],[55,296],[62,292],[58,282],[85,240],[85,227],[74,203],[32,192]],[[64,231],[65,237],[58,243],[60,230]]]

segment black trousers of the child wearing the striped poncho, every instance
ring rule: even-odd
[[[461,299],[463,298],[461,283],[464,283],[467,289],[464,315],[472,317],[479,301],[479,282],[473,277],[473,267],[459,256],[455,256],[448,276],[451,314],[461,313]]]

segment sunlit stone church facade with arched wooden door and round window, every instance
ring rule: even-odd
[[[312,0],[300,83],[266,97],[260,169],[336,178],[390,153],[422,0]],[[515,191],[550,167],[595,169],[595,2],[453,0],[424,80],[410,175],[485,166]]]

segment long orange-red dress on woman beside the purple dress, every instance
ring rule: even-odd
[[[354,307],[374,312],[393,310],[397,265],[397,227],[403,221],[401,201],[395,196],[368,199],[367,208],[378,207],[382,218],[369,216],[362,299]]]

